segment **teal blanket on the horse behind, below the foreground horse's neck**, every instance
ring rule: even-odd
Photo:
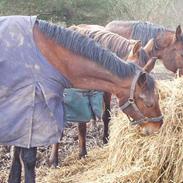
[[[86,123],[91,119],[101,119],[102,113],[103,92],[75,88],[64,90],[65,121]]]

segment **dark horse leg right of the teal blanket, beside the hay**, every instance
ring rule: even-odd
[[[103,143],[107,144],[109,139],[109,121],[111,118],[110,115],[110,102],[111,102],[111,94],[110,93],[104,93],[104,104],[105,104],[105,110],[102,116],[102,120],[104,122],[104,135],[103,135]]]

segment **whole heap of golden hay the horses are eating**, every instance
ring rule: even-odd
[[[162,81],[159,88],[164,113],[160,133],[144,137],[120,113],[112,118],[109,145],[52,172],[52,180],[59,177],[52,182],[183,182],[183,79]]]

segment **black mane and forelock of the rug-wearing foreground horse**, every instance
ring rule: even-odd
[[[82,55],[88,58],[89,61],[101,65],[120,78],[132,77],[137,70],[142,70],[136,64],[123,61],[110,50],[102,48],[93,39],[83,36],[76,31],[43,20],[37,20],[37,26],[50,39],[71,50],[73,53]],[[155,81],[149,74],[147,74],[147,81],[147,88],[149,91],[153,91]],[[148,87],[148,85],[150,86]]]

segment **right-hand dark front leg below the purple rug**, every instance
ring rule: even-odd
[[[21,148],[21,158],[24,164],[25,183],[35,183],[35,167],[36,167],[37,148]]]

